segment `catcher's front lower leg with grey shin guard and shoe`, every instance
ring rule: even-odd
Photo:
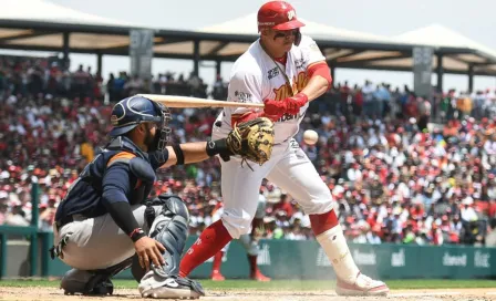
[[[132,272],[140,281],[140,292],[144,298],[198,299],[205,295],[202,286],[179,277],[180,256],[188,236],[188,209],[177,196],[161,195],[153,200],[153,205],[159,203],[163,204],[162,212],[154,218],[148,236],[165,247],[166,263],[163,267],[151,263],[151,270],[145,273],[134,260]]]

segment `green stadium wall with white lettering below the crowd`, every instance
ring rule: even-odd
[[[0,232],[1,233],[1,232]],[[196,237],[189,237],[187,248]],[[43,233],[38,241],[35,262],[40,277],[61,277],[69,267],[61,260],[51,260],[48,246],[53,236]],[[4,278],[30,276],[30,243],[7,242]],[[185,249],[185,251],[187,250]],[[2,248],[3,249],[3,248]],[[381,279],[496,279],[496,248],[469,246],[413,245],[350,245],[360,269]],[[2,257],[4,253],[2,253]],[[246,252],[238,241],[231,243],[223,259],[221,272],[229,279],[246,279],[249,274]],[[273,279],[334,279],[335,274],[323,250],[316,241],[261,240],[258,263],[265,274]],[[192,278],[209,278],[211,259],[198,267]],[[131,272],[118,274],[132,279]]]

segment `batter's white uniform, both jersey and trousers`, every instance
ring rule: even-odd
[[[291,48],[286,65],[276,63],[256,41],[232,66],[228,100],[249,103],[282,101],[303,90],[308,82],[309,65],[323,61],[322,53],[309,37],[302,37],[300,45]],[[286,82],[285,73],[290,85]],[[264,178],[297,199],[307,215],[323,214],[333,208],[329,187],[292,138],[298,133],[307,107],[308,104],[301,107],[298,115],[287,114],[276,122],[276,145],[270,159],[264,165],[251,163],[248,167],[236,156],[229,162],[220,160],[224,199],[220,219],[232,238],[250,232],[251,221],[257,217],[257,198]],[[232,115],[247,111],[249,108],[224,108],[214,124],[213,139],[226,137],[231,131]]]

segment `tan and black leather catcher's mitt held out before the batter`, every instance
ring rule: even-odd
[[[267,117],[258,117],[237,124],[227,135],[226,144],[244,162],[248,159],[262,165],[272,153],[273,123]]]

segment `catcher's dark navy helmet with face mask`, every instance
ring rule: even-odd
[[[170,136],[170,127],[168,127],[170,120],[170,112],[165,105],[136,95],[124,98],[114,105],[111,116],[114,128],[108,135],[112,137],[121,136],[141,123],[155,123],[157,132],[151,145],[148,145],[148,152],[163,150]]]

